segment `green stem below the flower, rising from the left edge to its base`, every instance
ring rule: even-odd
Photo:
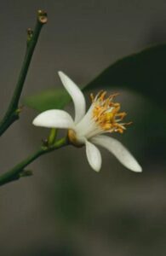
[[[39,156],[43,154],[47,154],[55,149],[62,148],[66,146],[67,140],[66,138],[62,138],[52,147],[41,147],[34,154],[31,154],[26,160],[21,161],[18,165],[14,166],[9,172],[5,172],[0,176],[0,186],[3,186],[6,183],[17,180],[21,177],[21,174],[25,172],[25,167],[28,166],[32,161],[36,160]],[[23,176],[23,175],[22,175]]]

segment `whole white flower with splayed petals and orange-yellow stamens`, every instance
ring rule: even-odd
[[[95,97],[91,95],[92,104],[86,113],[82,91],[65,73],[59,72],[59,75],[62,84],[72,97],[75,119],[73,120],[72,116],[64,110],[51,109],[37,115],[33,125],[68,129],[68,138],[72,144],[77,147],[85,144],[89,165],[96,172],[100,171],[101,155],[94,144],[108,149],[129,170],[141,172],[139,163],[122,143],[115,138],[103,135],[113,131],[123,133],[126,129],[125,125],[128,125],[120,123],[126,113],[119,113],[120,104],[112,102],[116,95],[105,98],[105,91],[100,91]]]

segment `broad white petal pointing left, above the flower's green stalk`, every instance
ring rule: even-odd
[[[72,117],[66,111],[51,109],[37,115],[32,122],[33,125],[48,128],[73,128]]]

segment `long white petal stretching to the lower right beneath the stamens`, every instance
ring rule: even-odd
[[[93,143],[108,149],[112,154],[117,157],[123,166],[134,172],[142,172],[142,168],[135,160],[134,156],[129,153],[129,150],[119,143],[116,139],[107,136],[96,136],[91,139]]]

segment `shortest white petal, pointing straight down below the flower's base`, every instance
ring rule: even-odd
[[[94,169],[94,171],[99,172],[101,167],[101,155],[99,149],[88,141],[86,141],[85,146],[89,165]]]

